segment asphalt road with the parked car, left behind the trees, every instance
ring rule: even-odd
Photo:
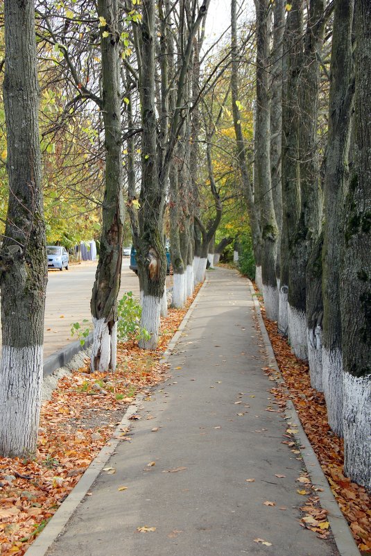
[[[70,264],[69,270],[48,272],[44,325],[44,359],[70,342],[71,324],[88,319],[91,323],[90,298],[94,284],[96,262]],[[120,296],[132,292],[139,296],[139,280],[129,269],[130,258],[123,258]],[[169,277],[167,279],[169,282]],[[168,284],[169,287],[169,284]],[[89,325],[89,323],[86,323]],[[84,325],[85,326],[85,325]]]

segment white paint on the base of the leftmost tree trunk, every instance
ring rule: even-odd
[[[3,346],[0,365],[0,453],[29,455],[36,448],[42,397],[42,346]]]

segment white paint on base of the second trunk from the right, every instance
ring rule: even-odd
[[[322,386],[329,426],[343,436],[343,358],[339,348],[322,347]]]

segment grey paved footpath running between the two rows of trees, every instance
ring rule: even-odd
[[[248,284],[208,274],[169,358],[172,378],[143,402],[132,441],[106,464],[116,473],[101,472],[48,555],[338,555],[298,521],[303,463],[282,444],[282,415],[266,411],[272,382]]]

